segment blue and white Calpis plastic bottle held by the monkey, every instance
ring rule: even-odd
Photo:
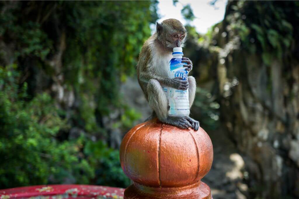
[[[183,67],[186,63],[182,62],[182,48],[173,48],[172,55],[173,58],[170,60],[168,68],[169,78],[182,77],[183,80],[188,80],[188,71],[186,67]],[[190,114],[188,89],[177,90],[167,87],[167,97],[169,116],[188,116]]]

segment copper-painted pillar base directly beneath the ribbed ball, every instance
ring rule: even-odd
[[[212,199],[207,184],[196,182],[181,187],[148,187],[134,183],[127,187],[124,199]]]

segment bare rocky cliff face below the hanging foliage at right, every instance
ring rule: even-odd
[[[277,60],[266,67],[258,55],[228,56],[217,66],[222,124],[246,157],[252,189],[264,197],[298,194],[299,65],[286,70]]]

